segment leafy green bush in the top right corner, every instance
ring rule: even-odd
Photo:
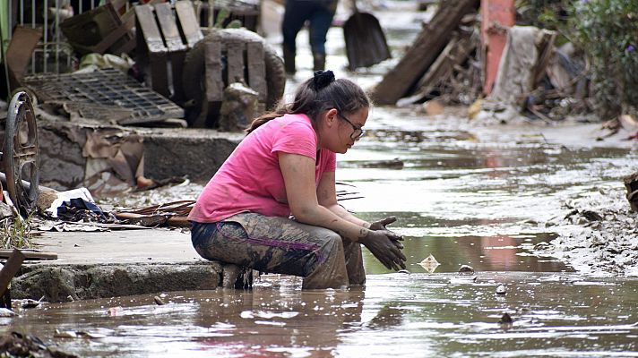
[[[557,30],[590,63],[591,95],[601,119],[638,107],[638,1],[517,0],[517,23]],[[565,21],[566,20],[566,21]]]

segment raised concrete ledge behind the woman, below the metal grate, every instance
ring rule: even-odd
[[[38,135],[40,183],[61,191],[85,186],[93,194],[102,182],[109,186],[119,182],[125,187],[134,185],[142,154],[143,175],[148,178],[186,175],[194,182],[207,182],[244,138],[243,132],[204,128],[139,128],[63,121],[42,121]],[[117,181],[109,181],[110,177]]]

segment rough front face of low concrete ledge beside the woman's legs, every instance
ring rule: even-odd
[[[214,290],[221,284],[219,262],[94,265],[23,265],[13,278],[14,299],[51,303],[168,291]]]

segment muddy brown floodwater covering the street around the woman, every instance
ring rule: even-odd
[[[338,180],[353,185],[340,189],[363,197],[341,203],[366,219],[398,217],[410,273],[365,251],[367,285],[345,292],[302,292],[299,279],[268,275],[252,291],[159,293],[161,306],[153,295],[44,303],[0,329],[85,357],[638,356],[638,279],[587,277],[532,253],[556,237],[541,223],[565,215],[561,200],[618,184],[636,154],[466,124],[377,108],[369,134],[338,158]],[[190,199],[201,188],[128,199]],[[430,254],[433,273],[418,265]],[[458,277],[461,265],[476,279]],[[513,324],[499,323],[504,313]]]

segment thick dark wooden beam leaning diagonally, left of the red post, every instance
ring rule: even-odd
[[[421,30],[401,61],[387,72],[371,93],[380,105],[393,105],[407,95],[452,37],[463,16],[478,8],[478,0],[441,2],[438,12]]]

